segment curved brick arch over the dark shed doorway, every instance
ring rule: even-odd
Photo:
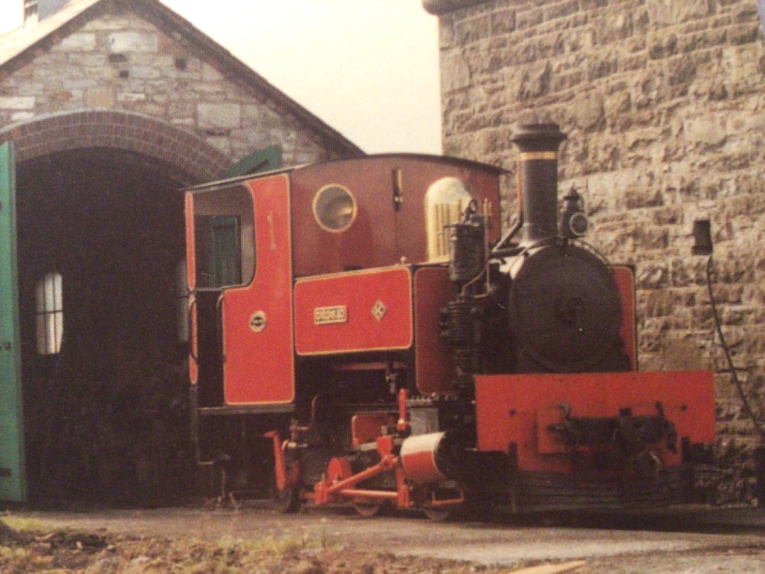
[[[0,129],[16,161],[85,148],[116,148],[156,158],[196,181],[216,178],[229,158],[196,134],[141,114],[86,109],[37,116]]]

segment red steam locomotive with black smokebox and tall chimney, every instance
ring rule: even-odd
[[[558,214],[558,126],[502,171],[376,155],[191,188],[192,438],[284,512],[602,510],[683,501],[711,373],[637,370],[635,286]]]

